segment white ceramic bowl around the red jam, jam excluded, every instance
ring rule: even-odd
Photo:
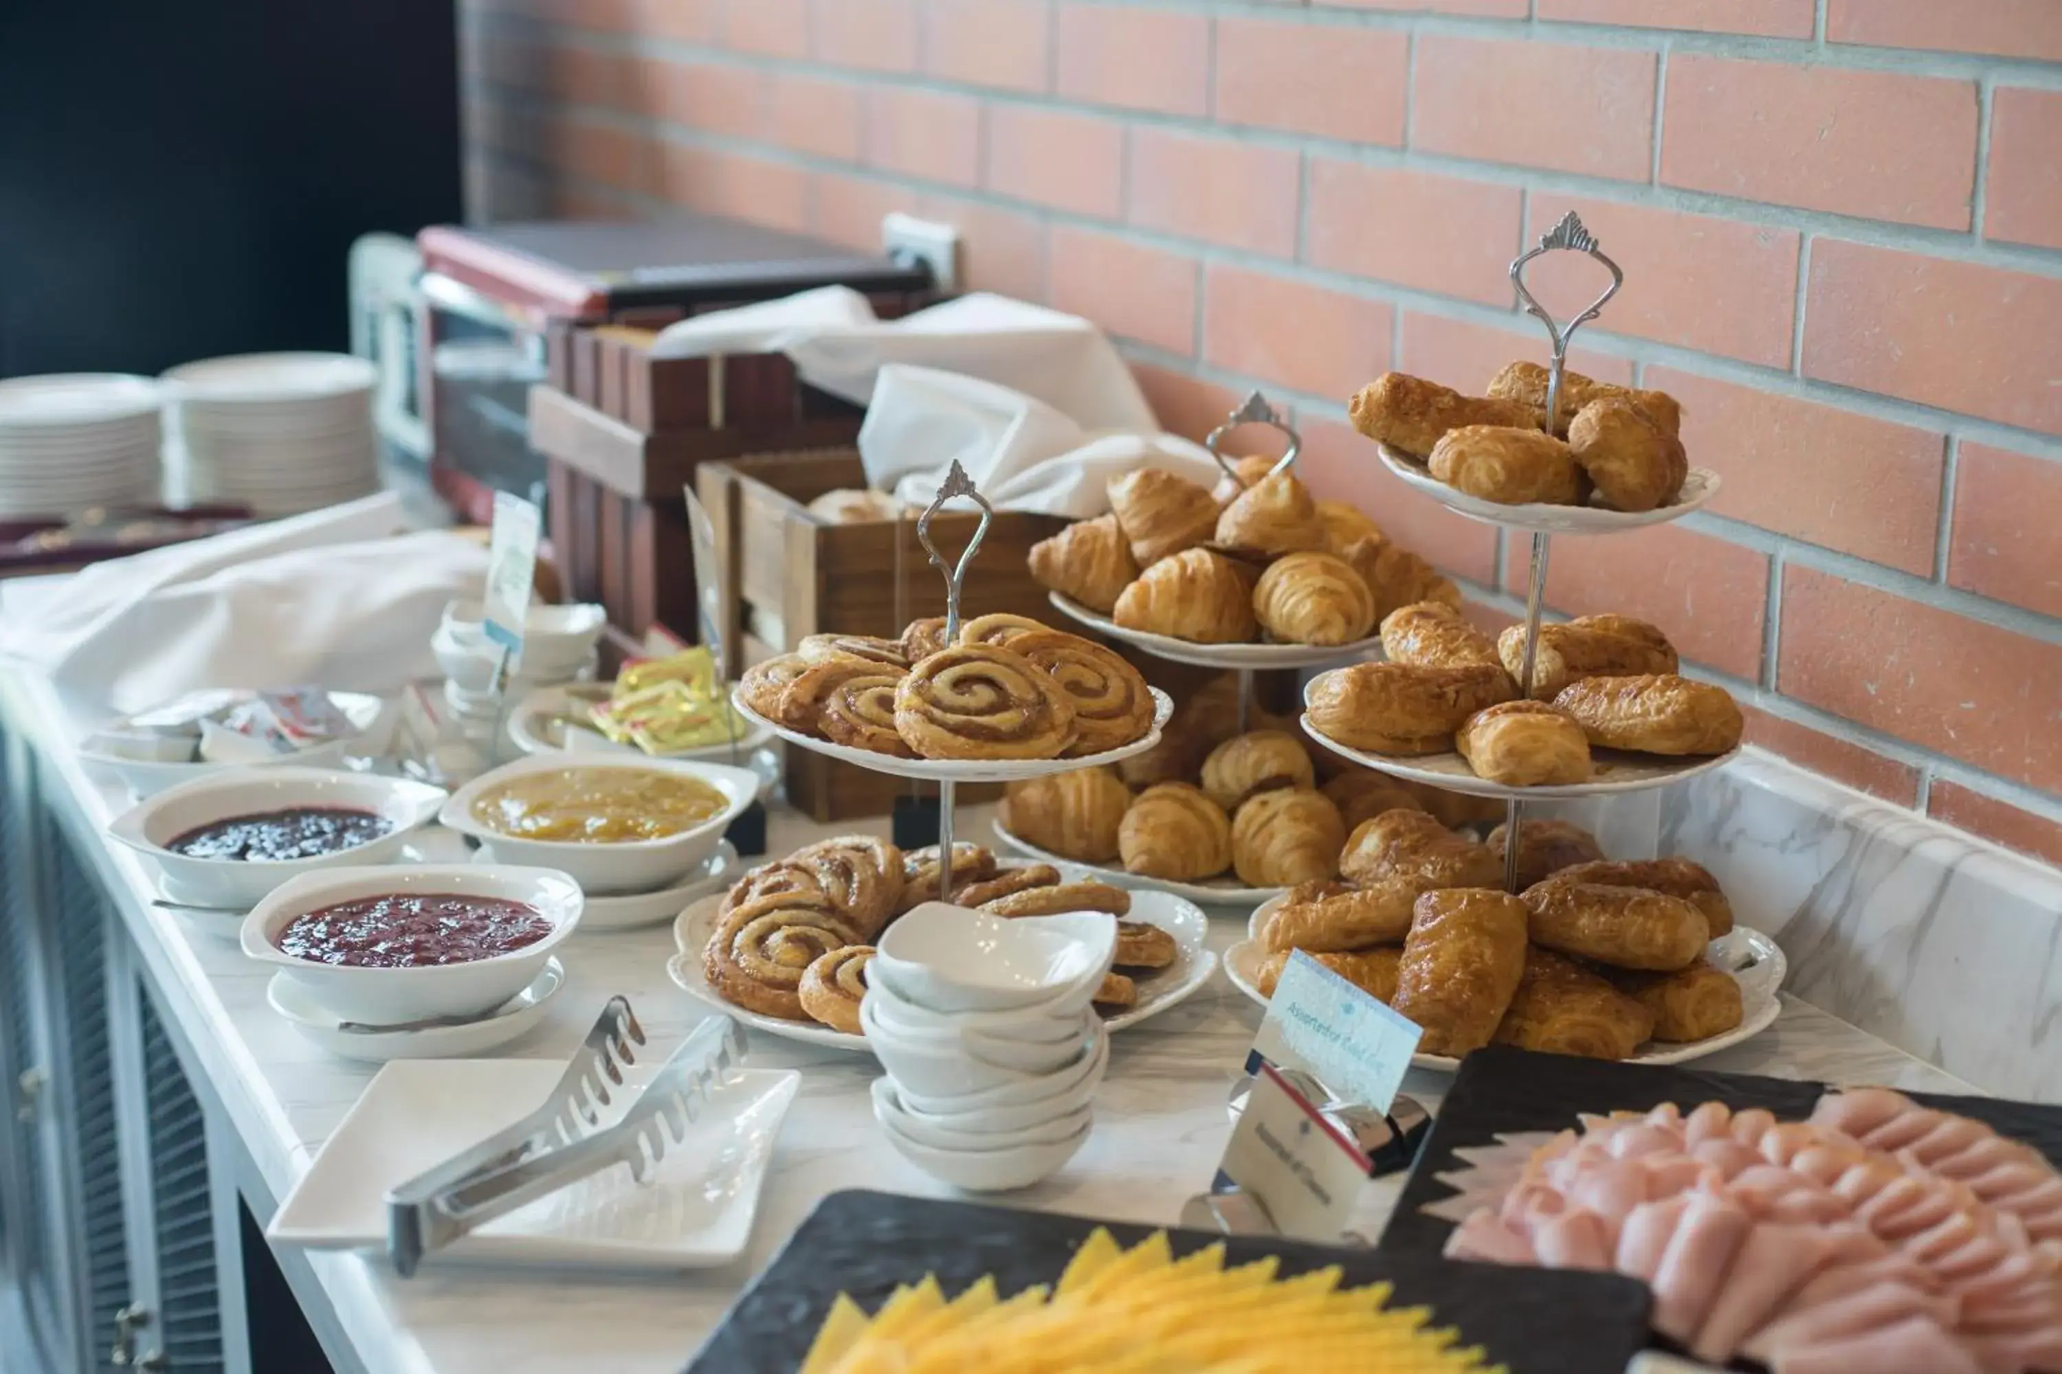
[[[474,960],[425,968],[353,968],[293,958],[278,933],[322,906],[388,892],[495,896],[536,906],[553,931],[544,939]],[[243,919],[243,954],[278,968],[309,1001],[346,1022],[394,1026],[431,1016],[485,1016],[544,970],[553,950],[579,925],[579,886],[565,873],[478,863],[348,867],[285,884]]]

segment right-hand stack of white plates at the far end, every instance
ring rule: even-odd
[[[293,515],[379,488],[365,358],[250,352],[165,373],[186,499]]]

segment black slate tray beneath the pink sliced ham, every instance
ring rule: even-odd
[[[1456,1147],[1487,1145],[1507,1131],[1561,1131],[1575,1125],[1575,1112],[1643,1112],[1674,1102],[1683,1110],[1718,1100],[1740,1110],[1763,1106],[1782,1119],[1810,1114],[1825,1084],[1759,1077],[1753,1073],[1707,1073],[1689,1065],[1637,1065],[1569,1055],[1538,1055],[1493,1044],[1460,1061],[1452,1092],[1439,1104],[1425,1147],[1419,1149],[1396,1211],[1382,1232],[1384,1255],[1439,1255],[1452,1222],[1423,1213],[1425,1203],[1452,1197],[1437,1174],[1460,1168]],[[2002,1135],[2025,1141],[2062,1168],[2062,1106],[1907,1092],[1914,1102],[1975,1117]]]

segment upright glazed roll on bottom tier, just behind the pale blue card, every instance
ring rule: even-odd
[[[1524,902],[1489,888],[1425,892],[1390,1005],[1425,1028],[1421,1055],[1466,1055],[1489,1044],[1524,972]]]

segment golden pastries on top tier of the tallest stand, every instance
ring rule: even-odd
[[[1353,426],[1431,470],[1454,490],[1499,505],[1600,505],[1654,511],[1674,505],[1689,478],[1683,406],[1666,391],[1635,391],[1561,377],[1546,433],[1546,369],[1511,363],[1489,396],[1384,373],[1349,406]]]

